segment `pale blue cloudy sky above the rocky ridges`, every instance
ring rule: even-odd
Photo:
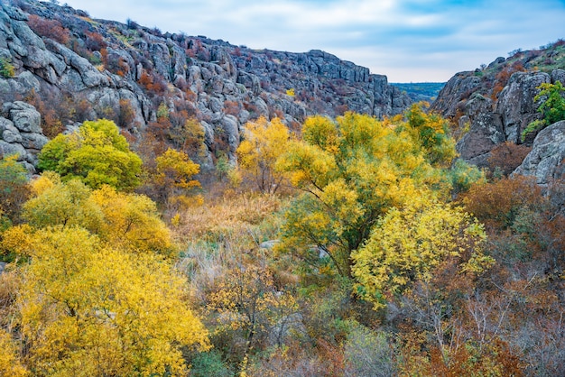
[[[64,0],[60,1],[63,4]],[[517,49],[565,38],[565,0],[67,0],[252,49],[322,50],[389,82],[444,82]]]

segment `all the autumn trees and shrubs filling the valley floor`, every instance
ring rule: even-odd
[[[523,145],[478,170],[423,104],[260,117],[202,173],[183,134],[86,121],[32,179],[0,161],[0,374],[565,372],[562,184],[509,176]]]

